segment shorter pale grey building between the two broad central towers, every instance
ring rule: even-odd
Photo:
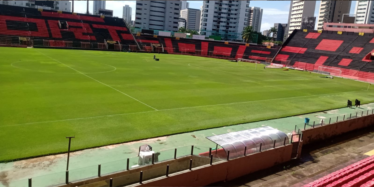
[[[199,9],[181,10],[181,18],[186,19],[186,28],[198,31],[200,29],[201,11]]]

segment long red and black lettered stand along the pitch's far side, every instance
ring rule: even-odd
[[[66,22],[66,28],[64,24]],[[73,47],[107,49],[105,41],[118,42],[121,49],[145,52],[166,52],[219,58],[245,58],[270,61],[279,47],[249,45],[235,42],[196,40],[137,34],[134,36],[123,19],[38,10],[27,7],[0,5],[0,36],[32,37],[34,47]],[[18,40],[18,38],[15,38]],[[138,42],[138,43],[137,43]],[[15,42],[16,43],[16,42]],[[137,45],[139,44],[139,47]],[[112,48],[113,49],[113,48]],[[114,48],[114,49],[119,49]]]

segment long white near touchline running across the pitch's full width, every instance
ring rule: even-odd
[[[362,91],[352,91],[352,92],[362,92]],[[351,92],[340,92],[340,93],[351,93]],[[219,105],[242,104],[242,103],[261,102],[261,101],[274,101],[274,100],[281,100],[281,99],[294,99],[294,98],[303,98],[303,97],[321,96],[321,95],[331,95],[331,94],[335,94],[336,95],[336,94],[340,94],[340,93],[325,93],[325,94],[318,94],[318,95],[306,95],[306,96],[286,97],[286,98],[278,98],[278,99],[265,99],[265,100],[257,100],[257,101],[232,102],[232,103],[225,103],[225,104],[204,105],[204,106],[196,106],[196,107],[170,108],[170,109],[152,110],[152,111],[144,111],[144,112],[133,112],[133,113],[124,113],[124,114],[112,114],[112,115],[93,116],[93,117],[81,117],[81,118],[74,118],[74,119],[64,119],[64,120],[47,121],[47,122],[22,123],[22,124],[14,124],[14,125],[3,125],[3,126],[0,126],[0,128],[1,127],[6,127],[6,126],[30,125],[30,124],[36,124],[36,123],[50,123],[50,122],[63,122],[63,121],[70,121],[70,120],[92,119],[92,118],[98,118],[98,117],[111,117],[111,116],[122,116],[122,115],[128,115],[128,114],[139,114],[139,113],[148,113],[148,112],[157,112],[157,111],[180,110],[180,109],[186,109],[186,108],[213,107],[213,106],[219,106]]]

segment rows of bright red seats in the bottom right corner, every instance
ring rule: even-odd
[[[374,156],[367,157],[343,169],[332,172],[304,187],[373,187]]]

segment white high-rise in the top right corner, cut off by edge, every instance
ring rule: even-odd
[[[374,24],[374,1],[356,1],[357,24]]]

